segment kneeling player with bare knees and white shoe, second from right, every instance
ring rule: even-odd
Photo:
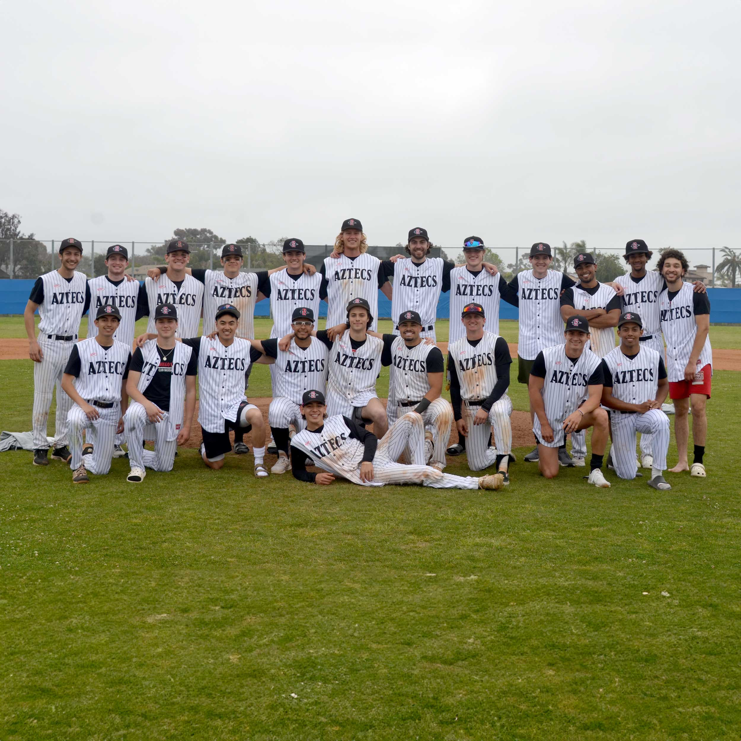
[[[565,345],[541,350],[533,362],[528,382],[535,412],[533,432],[538,441],[538,467],[546,479],[559,471],[559,445],[566,435],[592,429],[590,484],[610,485],[602,475],[602,456],[608,439],[608,416],[599,408],[602,400],[602,361],[585,345],[589,322],[578,314],[566,322]],[[635,454],[634,454],[635,457]]]

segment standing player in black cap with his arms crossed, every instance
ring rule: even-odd
[[[599,358],[615,348],[615,330],[620,316],[620,299],[614,288],[600,283],[594,256],[582,252],[574,256],[574,270],[579,283],[561,294],[561,318],[579,314],[589,322],[587,347]],[[585,431],[571,433],[571,458],[576,466],[584,466],[587,455]]]

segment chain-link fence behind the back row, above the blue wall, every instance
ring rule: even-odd
[[[59,239],[0,239],[0,279],[32,279],[59,267]],[[88,240],[82,242],[84,252],[79,270],[87,276],[93,277],[106,272],[105,253],[110,245],[123,245],[129,253],[130,272],[137,279],[144,279],[147,270],[165,264],[165,247],[159,240],[148,242]],[[210,268],[218,270],[221,267],[222,244],[219,243],[188,243],[190,246],[190,267]],[[244,270],[262,270],[279,268],[284,264],[280,246],[275,243],[259,244],[256,242],[242,244],[245,253]],[[554,250],[554,269],[573,272],[574,254],[579,251],[589,251],[597,256],[599,265],[598,278],[611,280],[615,276],[625,273],[627,266],[622,257],[623,247],[604,247],[591,249],[583,242],[572,242],[571,245],[552,245]],[[329,256],[333,245],[306,245],[308,262],[319,268],[322,260]],[[403,253],[399,245],[368,247],[368,251],[387,259],[397,253]],[[502,247],[495,246],[487,251],[487,259],[496,262],[506,277],[527,270],[529,247]],[[705,285],[716,288],[735,287],[741,285],[741,253],[728,247],[697,247],[685,250],[690,262],[691,271],[687,279],[701,280]],[[432,256],[442,256],[462,262],[461,247],[433,247]],[[654,250],[649,267],[656,265],[659,250]]]

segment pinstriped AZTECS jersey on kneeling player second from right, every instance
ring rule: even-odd
[[[554,443],[548,443],[553,447],[562,442],[563,421],[589,395],[589,378],[597,371],[602,361],[591,350],[585,349],[574,362],[566,355],[565,345],[555,345],[541,352],[545,362],[543,406],[548,424],[554,431]],[[542,440],[540,420],[537,414],[533,422],[533,430]]]

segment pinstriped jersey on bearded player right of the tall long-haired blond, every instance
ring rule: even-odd
[[[428,257],[424,262],[412,262],[411,257],[398,260],[393,266],[393,293],[391,316],[399,319],[402,311],[416,311],[422,317],[425,332],[435,326],[437,302],[442,290],[442,265],[440,257]],[[399,330],[394,330],[398,332]]]

